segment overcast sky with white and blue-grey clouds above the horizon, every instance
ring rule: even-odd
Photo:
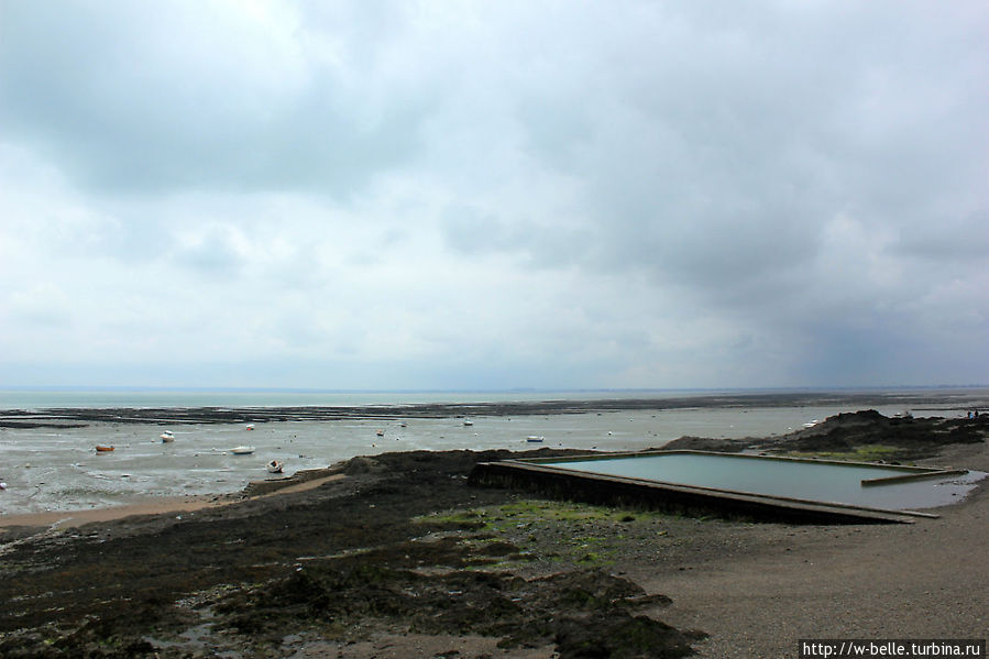
[[[989,4],[0,0],[0,385],[989,383]]]

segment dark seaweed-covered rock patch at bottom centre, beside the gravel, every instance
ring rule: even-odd
[[[667,604],[597,570],[526,580],[510,573],[422,574],[380,562],[299,569],[218,603],[220,624],[253,638],[306,620],[323,636],[370,620],[415,634],[501,638],[503,648],[556,642],[561,657],[683,657],[702,637],[633,612]],[[276,638],[273,638],[276,640]]]

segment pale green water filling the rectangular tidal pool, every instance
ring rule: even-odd
[[[975,486],[976,481],[986,475],[965,470],[699,451],[525,462],[578,474],[618,476],[880,510],[912,510],[956,503]]]

